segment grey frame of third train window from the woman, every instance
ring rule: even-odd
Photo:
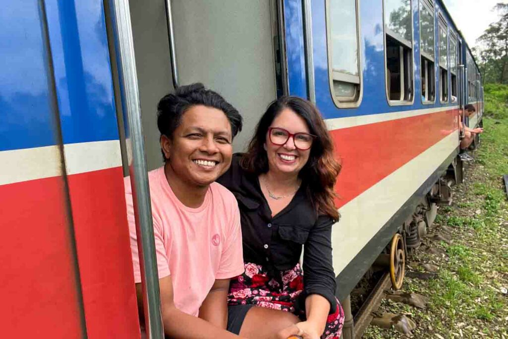
[[[433,99],[432,100],[423,100],[421,99],[422,101],[422,104],[423,105],[434,105],[436,103],[436,39],[435,39],[435,35],[436,35],[436,15],[435,15],[435,3],[434,3],[434,0],[418,0],[419,2],[419,6],[418,6],[418,27],[419,27],[419,33],[420,33],[420,37],[419,37],[419,51],[420,51],[420,98],[422,98],[423,96],[423,86],[422,86],[422,72],[424,70],[424,67],[425,67],[425,73],[427,74],[427,76],[425,77],[425,80],[426,80],[426,85],[425,85],[425,92],[426,92],[426,96],[427,97],[427,94],[428,94],[428,88],[429,88],[429,85],[431,85],[431,88],[433,89]],[[421,7],[424,6],[426,7],[426,9],[428,11],[430,11],[430,13],[432,14],[432,28],[433,28],[433,38],[434,38],[434,55],[429,55],[427,54],[426,52],[423,52],[422,51],[422,37],[421,37],[421,34],[422,34],[422,15],[421,15]],[[432,58],[432,59],[431,59]],[[432,65],[429,65],[427,66],[427,63],[432,63]],[[432,84],[429,84],[429,71],[433,78],[433,82]]]

